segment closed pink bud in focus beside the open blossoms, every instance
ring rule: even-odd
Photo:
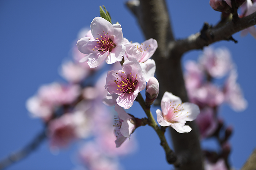
[[[148,80],[146,86],[146,104],[153,104],[159,94],[159,83],[156,78],[152,77]]]

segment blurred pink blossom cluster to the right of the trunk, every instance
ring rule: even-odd
[[[185,70],[184,80],[189,100],[200,108],[196,123],[201,139],[216,137],[221,152],[229,153],[228,139],[232,128],[223,127],[223,120],[218,118],[218,108],[223,103],[229,104],[234,111],[244,111],[247,107],[247,101],[237,83],[237,67],[231,60],[230,52],[226,48],[216,50],[210,47],[205,48],[198,62],[187,61]],[[222,86],[214,83],[217,79],[223,80]],[[224,137],[221,137],[222,131],[224,131]],[[212,159],[214,155],[212,151],[205,151],[205,153],[209,160],[214,160],[206,161],[206,169],[212,169],[215,166],[226,169],[223,162],[227,162],[227,157],[219,155],[216,158],[217,154],[215,154],[215,158]]]

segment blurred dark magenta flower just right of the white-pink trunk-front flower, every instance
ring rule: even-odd
[[[211,107],[201,109],[200,114],[196,118],[196,123],[200,130],[201,139],[212,135],[218,126],[218,121]]]

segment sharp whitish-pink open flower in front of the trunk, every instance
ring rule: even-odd
[[[178,133],[190,132],[192,129],[185,125],[186,121],[193,121],[200,113],[196,104],[182,103],[178,96],[165,92],[161,100],[161,110],[157,110],[157,122],[161,126],[172,126]]]

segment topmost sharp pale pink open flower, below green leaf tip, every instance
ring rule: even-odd
[[[76,44],[80,52],[88,54],[86,58],[91,68],[99,66],[105,59],[108,64],[122,60],[125,46],[121,25],[112,25],[102,17],[95,17],[91,22],[91,33],[93,38],[81,38]]]

